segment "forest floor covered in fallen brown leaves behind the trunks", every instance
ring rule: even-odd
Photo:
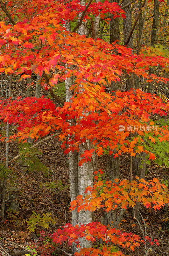
[[[3,129],[5,131],[5,127]],[[5,143],[0,142],[2,161],[5,159],[4,149]],[[32,159],[29,157],[31,155],[31,153],[29,155],[29,151],[27,151],[25,162],[19,160],[11,163],[12,175],[7,186],[9,194],[16,196],[19,208],[14,211],[10,210],[8,205],[5,207],[4,221],[0,223],[0,255],[4,256],[8,253],[9,255],[19,255],[19,250],[32,248],[32,245],[38,251],[37,247],[42,247],[44,244],[43,232],[41,238],[39,238],[39,232],[44,230],[46,234],[52,234],[60,226],[71,222],[69,171],[66,164],[67,157],[61,148],[61,142],[57,138],[51,138],[39,144],[37,149],[39,151],[35,152],[35,156],[48,168],[48,173],[46,167],[39,165],[38,158],[35,158],[36,165],[31,165],[31,162],[28,161]],[[10,143],[9,154],[10,158],[18,154],[17,142]],[[28,170],[27,163],[30,163],[32,170]],[[120,164],[120,179],[129,179],[129,157],[126,154],[120,158]],[[106,166],[108,166],[108,156],[99,157],[98,169],[106,171]],[[153,163],[147,166],[145,179],[151,180],[153,177],[160,181],[164,180],[164,167]],[[166,177],[169,177],[168,169]],[[140,212],[145,221],[145,227],[144,223],[141,223],[144,232],[146,228],[147,236],[159,240],[159,246],[147,245],[147,255],[169,255],[169,212],[164,209],[154,211],[152,208],[144,207],[141,207]],[[103,210],[95,212],[94,221],[101,221],[103,214]],[[53,223],[54,221],[55,223]],[[49,224],[48,228],[46,228],[46,223]],[[142,231],[133,220],[130,210],[125,212],[119,229],[135,233],[143,238]],[[71,248],[66,243],[57,244],[56,247],[68,255],[71,253]],[[45,249],[47,249],[46,245],[43,255],[50,255],[46,253]],[[55,250],[55,255],[67,255],[59,249]],[[123,253],[143,256],[145,255],[144,245],[142,244],[134,252],[123,249]]]

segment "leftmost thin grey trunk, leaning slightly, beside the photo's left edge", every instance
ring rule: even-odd
[[[11,86],[12,86],[12,74],[10,74],[9,79],[9,98],[11,97]],[[6,124],[6,151],[5,151],[5,168],[8,169],[8,160],[9,160],[9,124]],[[6,180],[7,177],[4,175],[3,187],[2,187],[2,205],[1,205],[1,219],[4,219],[5,211],[5,199],[6,199]]]

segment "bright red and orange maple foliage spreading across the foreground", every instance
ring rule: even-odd
[[[12,12],[14,2],[8,2],[7,6],[2,1],[0,4],[6,14],[5,19],[11,23],[0,22],[0,72],[22,74],[21,79],[30,77],[32,72],[39,74],[43,77],[41,85],[51,93],[58,80],[74,78],[74,84],[70,86],[73,97],[62,107],[56,107],[52,100],[44,96],[1,100],[1,119],[18,127],[18,133],[10,139],[17,137],[24,142],[30,137],[37,140],[58,131],[62,147],[68,146],[65,153],[84,148],[79,165],[87,162],[94,165],[95,154],[113,154],[114,149],[117,150],[114,157],[122,152],[128,152],[130,156],[145,152],[149,160],[156,158],[154,152],[145,147],[144,137],[148,136],[153,143],[168,141],[168,127],[159,125],[155,128],[155,118],[157,114],[167,115],[169,103],[141,90],[117,91],[112,96],[105,92],[104,86],[111,81],[120,82],[124,71],[129,75],[143,76],[147,82],[166,82],[166,78],[149,75],[148,71],[150,66],[157,65],[165,69],[169,59],[146,47],[135,55],[132,49],[125,46],[109,44],[100,39],[95,41],[75,33],[82,22],[87,23],[92,15],[100,15],[100,19],[107,20],[106,14],[109,12],[114,14],[114,18],[120,15],[125,18],[125,12],[118,4],[89,1],[82,5],[78,0],[71,3],[35,0],[17,3],[15,12]],[[83,15],[78,21],[81,13]],[[72,32],[65,28],[66,22],[70,21],[77,24]],[[63,103],[59,98],[58,101]],[[74,119],[75,122],[72,121]],[[120,125],[123,131],[119,130]],[[140,129],[144,126],[152,126],[153,132]],[[130,127],[135,129],[131,130]],[[129,136],[131,133],[132,137]],[[75,206],[78,204],[78,211],[94,211],[103,206],[102,201],[107,211],[115,208],[116,204],[122,208],[127,205],[134,207],[136,201],[146,207],[154,204],[154,209],[168,203],[168,189],[156,179],[149,182],[116,182],[118,185],[103,181],[96,182],[94,186],[91,184],[86,190],[87,195],[84,192],[74,201]],[[82,237],[91,242],[96,237],[102,238],[105,244],[97,249],[83,248]],[[144,238],[144,243],[146,239],[150,241]],[[53,241],[57,243],[66,240],[81,246],[80,255],[123,255],[119,250],[116,252],[111,246],[107,247],[106,243],[112,242],[134,250],[139,246],[140,237],[91,222],[75,227],[68,224],[53,234]]]

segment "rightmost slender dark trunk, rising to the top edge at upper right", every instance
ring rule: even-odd
[[[151,46],[157,44],[157,29],[158,29],[158,17],[159,17],[159,1],[154,0],[154,15],[151,27]],[[154,74],[154,67],[149,69],[149,75]],[[148,83],[147,92],[153,93],[153,82]]]

